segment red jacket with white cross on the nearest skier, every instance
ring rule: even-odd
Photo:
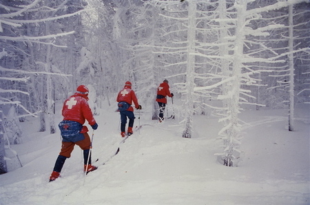
[[[96,124],[96,120],[92,115],[92,110],[87,103],[87,96],[77,92],[65,100],[62,114],[63,120],[77,121],[83,125],[85,119],[87,119],[90,126]],[[87,131],[87,127],[83,126],[81,133],[87,133]]]

